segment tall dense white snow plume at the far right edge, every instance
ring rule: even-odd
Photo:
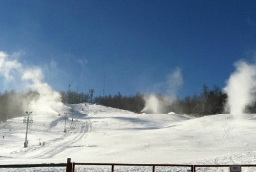
[[[236,70],[226,82],[224,91],[228,95],[227,108],[235,118],[243,118],[248,105],[255,102],[256,65],[244,61],[235,63]]]

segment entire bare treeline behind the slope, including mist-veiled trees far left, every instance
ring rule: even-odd
[[[96,96],[92,93],[77,93],[74,91],[60,91],[62,102],[68,104],[77,104],[83,102],[98,103],[100,105],[124,109],[139,113],[144,109],[146,95],[136,93],[132,96],[123,96],[120,92],[116,95]],[[24,109],[27,109],[32,100],[38,99],[40,95],[37,92],[16,92],[14,90],[0,93],[0,122],[9,118],[24,115]],[[255,95],[256,96],[256,95]],[[158,100],[164,100],[164,96],[157,95]],[[92,101],[93,100],[93,101]],[[192,116],[203,116],[213,114],[228,113],[225,109],[227,95],[218,86],[211,89],[204,85],[200,93],[192,96],[186,96],[166,105],[164,113],[175,112],[177,114],[188,114]],[[163,103],[164,104],[164,103]],[[245,113],[256,113],[256,103],[247,106]]]

